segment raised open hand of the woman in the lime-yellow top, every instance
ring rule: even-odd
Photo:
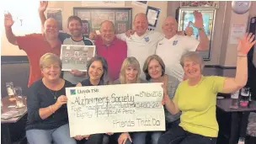
[[[237,54],[238,55],[247,55],[248,51],[253,47],[256,43],[254,40],[255,35],[252,33],[243,35],[243,38],[238,38],[238,45],[237,45]]]

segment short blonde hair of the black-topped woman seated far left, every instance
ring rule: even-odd
[[[51,64],[58,63],[58,65],[61,67],[62,62],[59,56],[56,56],[53,53],[46,53],[45,55],[40,57],[40,68],[44,68],[46,66],[49,66]]]

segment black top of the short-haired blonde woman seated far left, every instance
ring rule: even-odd
[[[59,96],[66,95],[65,88],[69,87],[73,87],[73,85],[66,80],[63,88],[58,91],[53,91],[46,88],[45,84],[42,82],[42,79],[32,83],[32,85],[29,87],[29,94],[27,97],[28,121],[26,130],[51,130],[67,124],[67,104],[63,104],[60,109],[57,109],[54,114],[50,115],[45,120],[40,118],[39,109],[46,108],[51,104],[55,104]]]

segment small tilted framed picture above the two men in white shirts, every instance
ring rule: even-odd
[[[153,8],[153,7],[147,7],[147,21],[148,21],[148,26],[152,28],[157,27],[157,21],[159,18],[159,14],[161,12],[160,8]]]

